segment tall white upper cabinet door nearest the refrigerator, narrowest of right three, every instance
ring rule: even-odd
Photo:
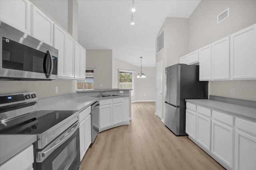
[[[199,80],[212,80],[212,45],[199,49]]]

